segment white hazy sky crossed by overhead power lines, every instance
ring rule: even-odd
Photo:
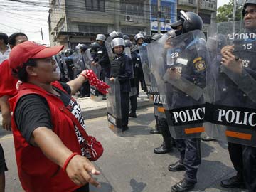
[[[218,0],[217,7],[228,4],[229,1]],[[0,0],[0,32],[10,36],[20,31],[26,33],[31,41],[49,45],[48,9],[48,0]]]

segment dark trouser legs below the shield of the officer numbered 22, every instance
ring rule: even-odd
[[[201,164],[201,139],[176,139],[176,147],[181,153],[181,163],[186,168],[185,179],[196,183],[196,174]]]

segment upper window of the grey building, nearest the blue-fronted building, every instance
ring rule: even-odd
[[[143,15],[144,1],[142,0],[121,0],[121,14]]]

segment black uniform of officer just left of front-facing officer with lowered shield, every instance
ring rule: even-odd
[[[105,43],[103,43],[99,50],[97,51],[97,58],[95,59],[95,62],[99,63],[101,66],[100,71],[100,80],[103,80],[105,82],[105,78],[110,78],[110,58],[107,55],[107,48],[105,46]]]

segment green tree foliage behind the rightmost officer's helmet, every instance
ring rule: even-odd
[[[228,4],[220,6],[217,10],[217,22],[227,22],[233,20],[233,0]],[[235,12],[235,21],[242,20],[242,6],[237,7]]]

